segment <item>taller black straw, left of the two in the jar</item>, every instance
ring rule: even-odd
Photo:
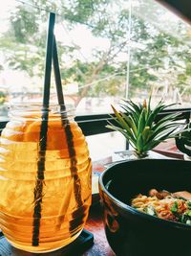
[[[33,230],[32,230],[32,245],[39,245],[39,231],[40,220],[42,211],[42,198],[43,198],[43,185],[44,185],[44,172],[45,160],[47,150],[47,131],[49,121],[49,102],[50,102],[50,87],[51,87],[51,71],[52,71],[52,58],[53,58],[53,28],[55,22],[55,14],[50,13],[49,27],[47,35],[47,52],[45,63],[45,80],[44,80],[44,95],[43,95],[43,111],[42,123],[40,127],[39,136],[39,151],[37,161],[37,174],[36,183],[33,191],[34,195],[34,209],[33,209]]]

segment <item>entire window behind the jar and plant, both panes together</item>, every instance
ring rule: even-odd
[[[190,107],[190,26],[159,3],[7,0],[0,10],[1,121],[10,103],[42,101],[49,12],[56,13],[65,102],[76,108],[85,134],[108,131],[111,104],[125,97],[141,101],[151,90],[153,104],[163,97],[181,104],[174,107]],[[56,101],[53,76],[51,99]],[[125,148],[116,133],[103,136]],[[92,154],[96,158],[96,149]]]

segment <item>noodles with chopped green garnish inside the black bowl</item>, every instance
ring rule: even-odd
[[[132,199],[132,207],[138,211],[166,221],[178,221],[191,225],[191,194],[169,193],[152,189],[148,196],[139,194]]]

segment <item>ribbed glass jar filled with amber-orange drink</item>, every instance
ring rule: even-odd
[[[53,251],[72,243],[88,217],[87,143],[59,105],[15,105],[10,113],[0,143],[0,228],[17,248]]]

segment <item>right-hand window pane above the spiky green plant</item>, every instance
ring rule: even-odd
[[[130,96],[190,107],[190,25],[153,0],[131,7]]]

